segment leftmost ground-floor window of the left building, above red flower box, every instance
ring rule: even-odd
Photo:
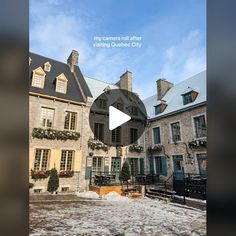
[[[48,168],[49,149],[36,149],[34,170],[47,170]]]

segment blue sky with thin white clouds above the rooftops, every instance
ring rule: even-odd
[[[95,48],[95,36],[141,36],[141,48]],[[205,0],[30,0],[30,51],[115,83],[127,69],[141,98],[156,80],[178,83],[206,68]]]

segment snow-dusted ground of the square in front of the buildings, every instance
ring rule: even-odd
[[[206,211],[110,193],[100,201],[30,204],[30,235],[206,235]]]

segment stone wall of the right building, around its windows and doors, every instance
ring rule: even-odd
[[[163,177],[167,179],[173,173],[173,155],[183,155],[183,166],[185,172],[188,173],[199,173],[198,163],[196,155],[198,153],[206,153],[205,147],[198,147],[195,149],[190,149],[187,147],[188,152],[191,155],[191,159],[187,158],[186,151],[186,143],[193,141],[195,139],[195,129],[193,123],[193,117],[198,115],[205,115],[206,119],[206,106],[201,106],[193,109],[189,109],[187,111],[177,113],[175,115],[171,115],[168,117],[163,117],[158,120],[151,121],[145,131],[145,140],[146,146],[153,146],[153,131],[152,129],[155,127],[160,127],[160,135],[161,135],[161,145],[164,146],[165,154],[170,158],[167,158],[168,163],[168,176]],[[171,135],[171,126],[170,124],[176,121],[180,121],[181,128],[181,141],[176,144],[172,141]],[[152,154],[153,156],[163,156],[164,150],[160,152],[156,152]],[[151,156],[151,154],[147,153],[147,159]],[[148,163],[148,160],[147,160]],[[149,169],[149,164],[147,164],[147,169]]]

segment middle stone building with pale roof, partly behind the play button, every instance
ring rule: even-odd
[[[85,77],[85,81],[93,95],[93,100],[104,93],[104,91],[110,89],[132,91],[132,73],[130,71],[126,71],[121,75],[120,80],[116,84],[109,84],[89,77]],[[104,97],[103,99],[105,100],[106,98]],[[122,110],[126,103],[125,98],[122,96],[114,98],[114,106],[117,109]],[[86,180],[89,180],[91,171],[117,172],[118,174],[125,160],[128,160],[130,163],[132,174],[143,173],[145,168],[145,151],[143,149],[144,143],[141,139],[137,140],[139,132],[137,123],[133,123],[131,126],[124,124],[111,132],[108,129],[108,116],[103,114],[94,114],[94,116],[94,133],[108,145],[105,145],[107,147],[105,149],[102,144],[99,149],[91,148],[93,144],[99,144],[99,141],[94,140],[93,132],[87,133],[89,136],[86,139],[91,140],[91,145],[88,147],[89,155],[86,157]],[[121,140],[125,139],[128,139],[131,145],[121,145]]]

